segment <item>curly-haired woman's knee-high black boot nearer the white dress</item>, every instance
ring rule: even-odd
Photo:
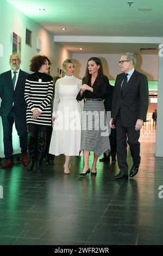
[[[46,146],[46,132],[45,131],[39,131],[38,151],[37,151],[37,166],[36,166],[36,172],[37,173],[42,173],[41,159],[42,159],[43,153],[45,151],[45,146]]]

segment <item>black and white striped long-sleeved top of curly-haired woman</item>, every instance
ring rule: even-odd
[[[42,81],[39,82],[39,78]],[[27,124],[52,125],[51,101],[53,95],[53,78],[45,73],[36,72],[26,79],[24,97],[27,102]],[[33,109],[41,111],[37,119],[32,119]]]

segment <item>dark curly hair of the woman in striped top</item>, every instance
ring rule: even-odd
[[[46,57],[45,55],[37,55],[34,56],[31,60],[30,60],[30,71],[33,72],[38,72],[41,68],[41,66],[46,62],[46,60],[48,61],[48,64],[51,65],[51,60],[49,60],[48,57]]]

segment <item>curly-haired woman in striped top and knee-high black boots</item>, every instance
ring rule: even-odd
[[[30,70],[34,73],[26,79],[24,94],[27,102],[26,120],[30,156],[28,170],[33,170],[37,156],[36,172],[42,173],[41,159],[46,145],[46,132],[48,126],[51,126],[53,78],[48,75],[51,61],[46,56],[35,56],[30,62]]]

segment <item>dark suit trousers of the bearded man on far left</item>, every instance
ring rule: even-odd
[[[15,128],[20,139],[20,148],[22,154],[27,154],[27,125],[26,115],[24,117],[17,117],[15,109],[12,107],[9,115],[2,118],[3,125],[3,144],[4,155],[6,159],[13,160],[13,147],[12,147],[12,126],[15,121]]]

